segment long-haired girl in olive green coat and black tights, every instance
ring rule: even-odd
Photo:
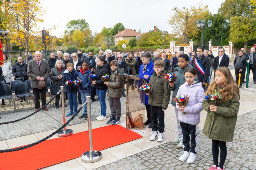
[[[216,70],[215,82],[210,85],[205,95],[215,91],[220,93],[222,101],[218,106],[210,105],[206,100],[203,101],[204,110],[208,112],[203,133],[212,139],[213,165],[209,170],[222,170],[227,157],[226,142],[233,141],[240,104],[239,88],[227,67],[220,67]],[[210,111],[215,112],[215,114],[209,115]],[[219,147],[220,164],[218,165]]]

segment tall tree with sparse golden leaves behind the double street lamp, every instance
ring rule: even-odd
[[[206,18],[210,13],[208,5],[203,6],[202,3],[190,8],[174,7],[173,11],[175,13],[169,20],[169,24],[173,28],[173,33],[183,37],[184,43],[187,43],[188,38],[198,37],[199,29],[196,27],[196,21]]]

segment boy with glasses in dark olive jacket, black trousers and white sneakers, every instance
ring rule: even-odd
[[[164,110],[169,105],[170,90],[168,89],[167,80],[164,79],[164,61],[156,60],[154,62],[154,72],[149,79],[150,94],[148,97],[148,104],[150,105],[151,112],[151,126],[153,134],[150,137],[151,141],[154,141],[158,137],[157,142],[163,142],[164,140]],[[158,121],[157,121],[158,119]],[[158,123],[157,123],[158,122]],[[159,133],[157,133],[157,130]]]

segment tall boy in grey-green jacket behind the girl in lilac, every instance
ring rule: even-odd
[[[181,85],[183,85],[186,82],[184,72],[188,68],[193,68],[192,65],[189,64],[188,55],[187,54],[181,54],[178,58],[178,63],[173,66],[173,70],[175,75],[177,76],[177,80],[174,83],[169,83],[168,87],[172,92],[172,106],[174,106],[175,109],[175,115],[177,120],[177,129],[178,129],[178,138],[171,141],[172,144],[177,144],[177,148],[183,148],[182,144],[182,131],[180,127],[180,121],[178,119],[179,116],[179,110],[175,107],[176,101],[175,97],[177,95],[177,92]],[[195,78],[195,81],[198,82],[198,78]]]

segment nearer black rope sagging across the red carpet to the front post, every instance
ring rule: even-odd
[[[26,145],[26,146],[22,146],[22,147],[19,147],[19,148],[13,148],[13,149],[5,149],[5,150],[0,150],[0,153],[4,153],[4,152],[14,152],[14,151],[20,151],[20,150],[23,150],[23,149],[27,149],[27,148],[30,148],[31,146],[34,146],[36,144],[40,144],[41,142],[44,142],[45,140],[49,139],[50,137],[52,137],[53,135],[55,135],[56,133],[58,133],[61,129],[63,129],[65,126],[68,125],[69,122],[71,122],[75,117],[76,115],[82,110],[82,106],[77,110],[76,114],[73,115],[69,120],[68,122],[66,122],[64,125],[62,125],[59,129],[57,129],[55,132],[53,132],[51,135],[48,135],[47,137],[45,137],[44,139],[41,139],[33,144],[29,144],[29,145]]]

